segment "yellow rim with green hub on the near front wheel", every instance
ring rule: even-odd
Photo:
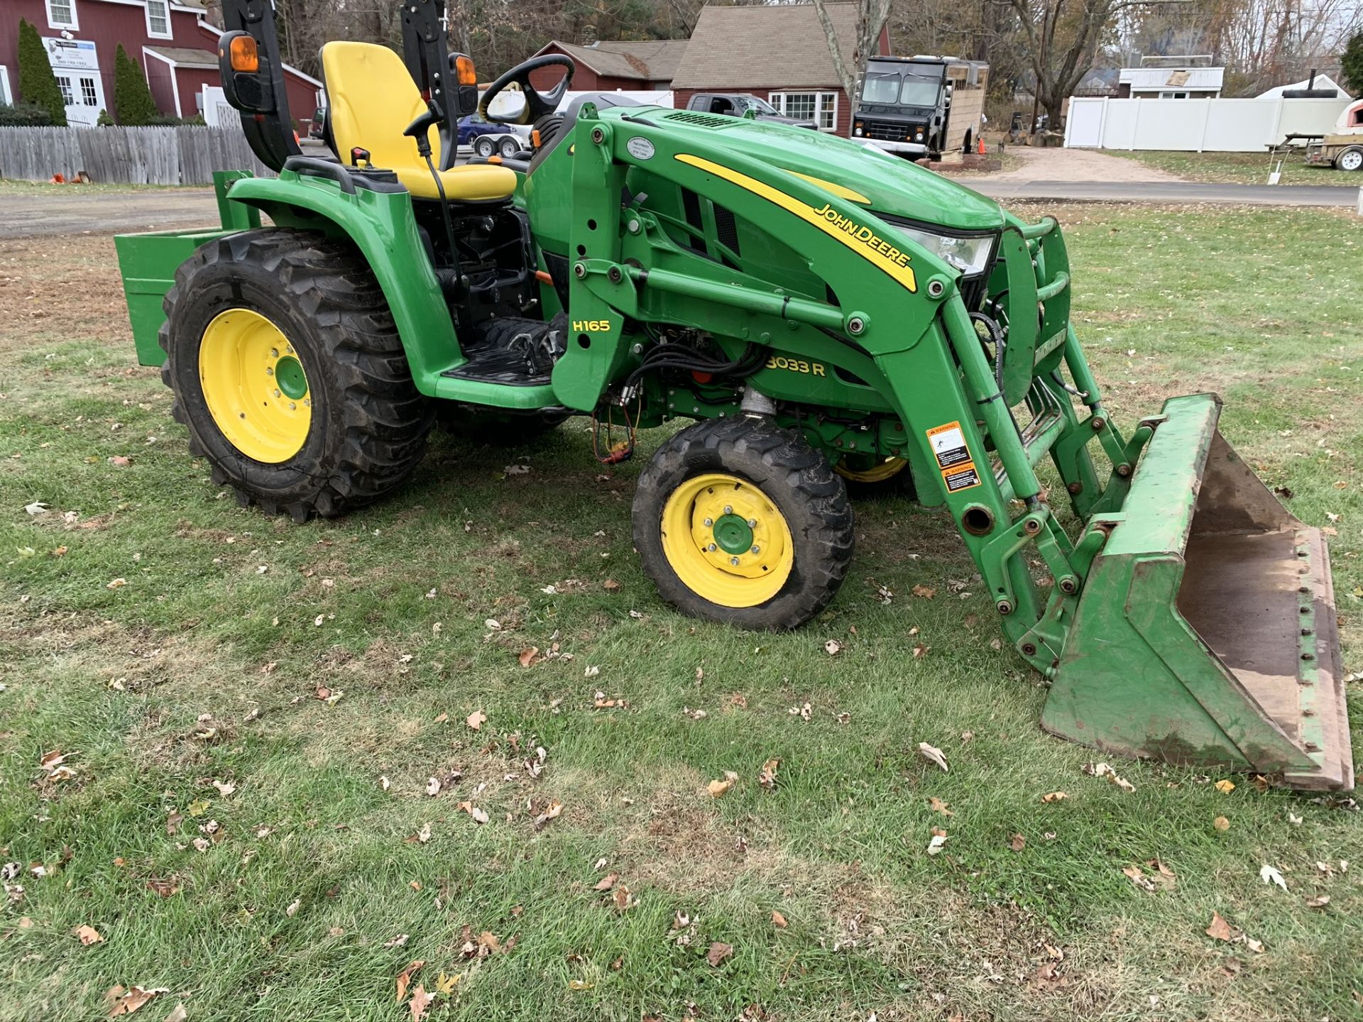
[[[662,553],[691,591],[720,606],[756,606],[791,578],[795,541],[785,515],[736,476],[695,476],[662,508]]]

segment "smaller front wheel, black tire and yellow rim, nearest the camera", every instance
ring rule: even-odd
[[[803,437],[755,418],[688,427],[658,448],[634,497],[634,546],[683,613],[796,628],[852,563],[842,480]]]

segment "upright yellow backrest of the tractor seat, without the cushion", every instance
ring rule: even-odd
[[[425,110],[402,57],[372,42],[328,42],[322,48],[322,76],[342,162],[350,162],[350,150],[358,146],[369,150],[375,166],[424,168],[416,139],[402,134]],[[428,129],[427,138],[440,166],[440,134]]]

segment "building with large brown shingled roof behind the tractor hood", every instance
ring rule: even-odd
[[[826,4],[846,67],[856,49],[856,4]],[[880,31],[878,55],[889,55]],[[814,4],[705,7],[672,78],[672,105],[696,93],[751,93],[788,117],[810,117],[822,131],[848,136],[852,104],[833,69]]]

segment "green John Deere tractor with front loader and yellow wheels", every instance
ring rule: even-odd
[[[808,621],[852,559],[848,485],[894,486],[951,516],[1050,683],[1047,730],[1352,786],[1321,531],[1221,437],[1214,395],[1118,428],[1055,219],[819,132],[563,105],[566,57],[480,99],[442,0],[403,5],[402,57],[323,48],[334,155],[309,157],[270,4],[224,12],[225,89],[278,176],[219,174],[219,229],[117,245],[139,357],[164,362],[191,452],[243,504],[361,507],[438,418],[525,436],[589,416],[608,463],[687,420],[632,508],[643,570],[684,613]],[[530,146],[459,162],[451,124],[476,106],[533,125]]]

